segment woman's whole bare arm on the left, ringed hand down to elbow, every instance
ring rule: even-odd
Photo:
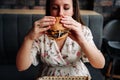
[[[52,16],[45,16],[42,19],[35,21],[34,26],[25,36],[24,41],[17,53],[16,65],[19,71],[28,69],[31,64],[31,48],[33,41],[38,39],[51,25],[55,23],[55,18]]]

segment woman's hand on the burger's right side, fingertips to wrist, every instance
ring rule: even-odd
[[[70,16],[64,16],[61,19],[61,23],[63,24],[64,27],[70,29],[70,34],[69,36],[75,40],[75,41],[82,41],[84,39],[83,33],[82,33],[82,24],[79,22],[75,21],[72,17]]]

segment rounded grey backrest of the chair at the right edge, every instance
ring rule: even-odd
[[[120,20],[112,20],[105,25],[103,38],[108,41],[120,41]]]

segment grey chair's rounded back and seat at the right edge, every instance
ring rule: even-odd
[[[112,20],[103,30],[104,52],[111,56],[120,55],[120,20]]]

